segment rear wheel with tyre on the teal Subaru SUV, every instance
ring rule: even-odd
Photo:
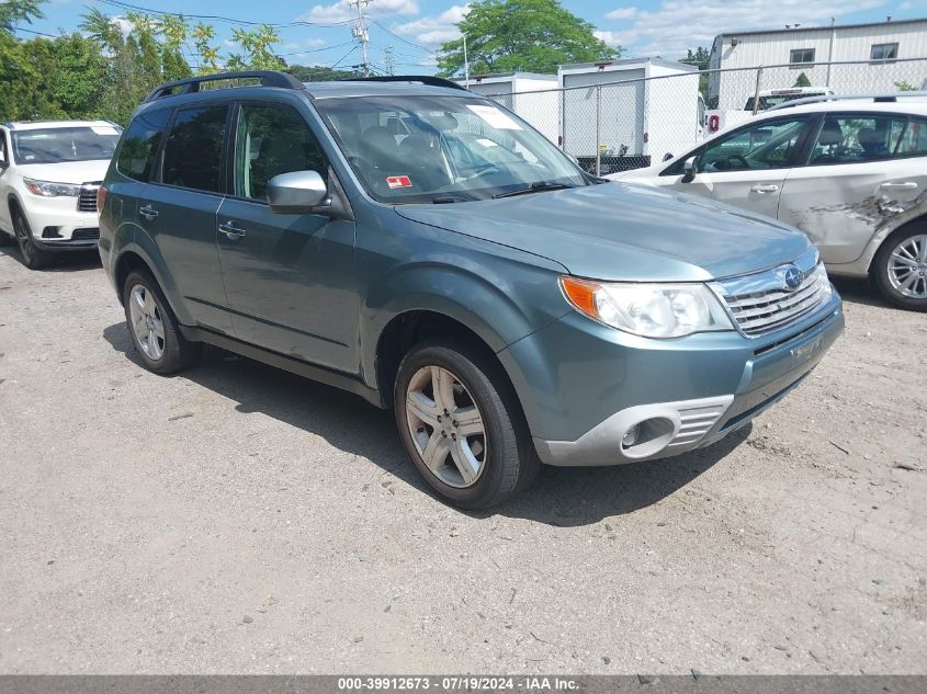
[[[123,285],[125,320],[135,351],[156,374],[172,374],[189,366],[202,345],[185,340],[177,317],[150,273],[134,270]]]

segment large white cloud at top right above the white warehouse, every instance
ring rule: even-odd
[[[620,32],[600,32],[612,38],[618,36],[629,54],[638,56],[679,57],[687,48],[711,46],[721,33],[755,29],[782,29],[785,24],[804,26],[827,25],[830,18],[838,20],[849,12],[872,10],[885,0],[664,0],[659,9],[638,10],[629,18],[629,26]],[[619,8],[615,12],[625,12]],[[613,18],[617,19],[617,18]],[[604,41],[604,38],[603,38]],[[610,42],[608,42],[610,43]]]

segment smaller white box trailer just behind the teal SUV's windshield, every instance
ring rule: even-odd
[[[454,81],[467,87],[472,92],[498,101],[556,144],[559,135],[556,75],[499,72],[471,77],[468,86],[462,78]]]

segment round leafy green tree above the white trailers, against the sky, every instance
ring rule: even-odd
[[[470,5],[459,27],[462,37],[439,49],[441,75],[462,71],[463,36],[471,72],[556,72],[558,65],[621,56],[621,48],[597,38],[595,26],[564,9],[558,0],[478,0]]]

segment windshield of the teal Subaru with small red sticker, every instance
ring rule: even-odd
[[[559,149],[490,101],[370,96],[315,103],[368,193],[381,202],[463,202],[587,184]]]

